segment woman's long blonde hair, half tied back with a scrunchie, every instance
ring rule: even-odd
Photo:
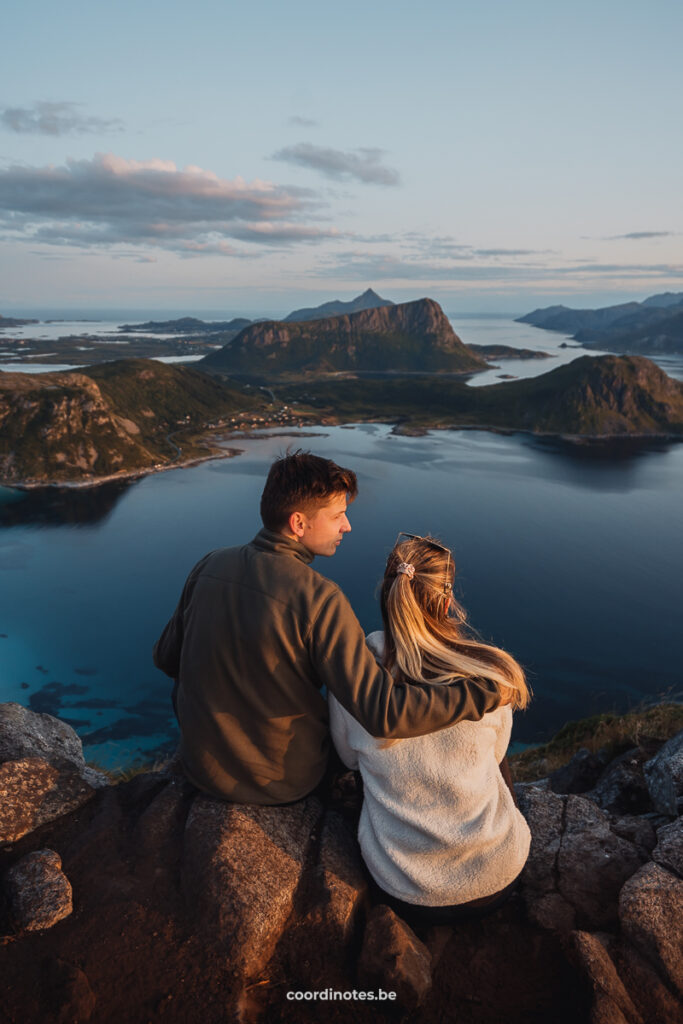
[[[405,569],[399,571],[401,563]],[[453,556],[434,538],[395,545],[380,591],[384,664],[418,683],[483,677],[496,683],[503,703],[525,708],[531,694],[521,666],[500,647],[474,639],[467,612],[452,593],[454,577]]]

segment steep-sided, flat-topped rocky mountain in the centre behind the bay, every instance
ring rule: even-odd
[[[322,321],[252,324],[198,365],[268,378],[353,370],[469,373],[486,367],[432,299]]]

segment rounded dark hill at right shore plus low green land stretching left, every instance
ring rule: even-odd
[[[336,422],[403,430],[483,427],[587,438],[683,434],[683,383],[642,356],[585,355],[547,374],[469,387],[451,378],[315,381],[306,401]],[[296,386],[279,392],[297,397]]]

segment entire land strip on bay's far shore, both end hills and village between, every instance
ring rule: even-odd
[[[683,436],[683,383],[643,356],[589,356],[468,387],[457,375],[346,373],[269,384],[122,359],[0,373],[0,483],[92,485],[233,453],[255,428],[380,422],[399,433],[477,428],[596,440]]]

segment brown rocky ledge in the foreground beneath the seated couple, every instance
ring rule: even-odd
[[[12,706],[2,721],[4,765],[82,770],[63,723]],[[668,748],[627,753],[644,777]],[[357,773],[283,807],[213,800],[172,764],[93,788],[0,849],[3,1010],[65,1024],[198,1007],[206,1024],[681,1020],[681,818],[601,807],[614,803],[601,777],[633,779],[580,761],[553,784],[583,794],[518,786],[532,836],[519,892],[457,928],[411,928],[372,895]],[[29,821],[41,802],[27,790]]]

